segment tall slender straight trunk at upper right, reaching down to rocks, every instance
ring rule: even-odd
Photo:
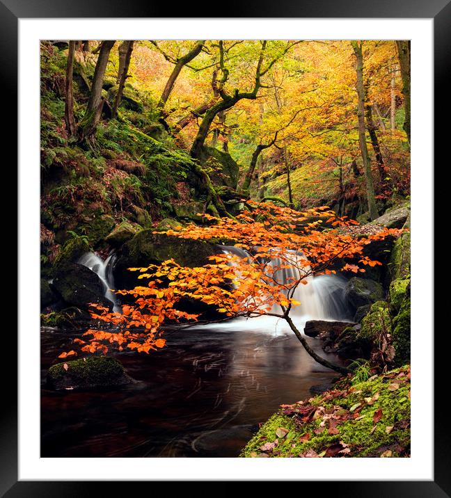
[[[370,156],[368,155],[366,143],[366,129],[365,129],[365,87],[363,86],[363,54],[362,45],[358,42],[351,41],[354,54],[356,56],[356,89],[358,95],[358,143],[360,145],[363,171],[365,172],[365,182],[368,200],[368,210],[370,211],[370,218],[375,220],[379,214],[377,212],[376,200],[374,199],[374,184],[372,180]]]

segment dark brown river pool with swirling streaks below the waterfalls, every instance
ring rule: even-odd
[[[118,353],[134,385],[49,391],[45,372],[72,337],[41,332],[42,457],[237,457],[281,403],[308,398],[312,385],[337,376],[292,332],[235,321],[166,331],[167,347],[149,355]],[[316,339],[310,344],[338,362]]]

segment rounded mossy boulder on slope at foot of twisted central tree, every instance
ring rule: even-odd
[[[237,188],[239,166],[228,152],[204,146],[199,159],[209,171],[213,184]]]

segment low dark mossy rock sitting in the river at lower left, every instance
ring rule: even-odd
[[[134,380],[127,375],[122,364],[108,356],[90,356],[58,363],[47,372],[49,389],[92,389],[128,385]]]

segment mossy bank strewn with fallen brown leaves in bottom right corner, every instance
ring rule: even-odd
[[[368,377],[354,376],[324,394],[282,405],[240,456],[409,457],[409,366]]]

